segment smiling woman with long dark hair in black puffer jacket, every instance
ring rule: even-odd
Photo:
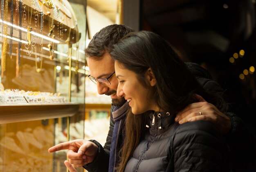
[[[176,114],[198,95],[223,113],[227,106],[200,87],[171,45],[140,31],[126,35],[110,54],[119,81],[117,96],[130,106],[116,170],[227,171],[225,143],[210,122],[175,123]]]

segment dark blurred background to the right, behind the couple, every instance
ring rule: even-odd
[[[141,0],[140,30],[167,39],[184,61],[206,68],[220,83],[232,110],[256,135],[255,0]],[[243,57],[229,59],[244,50]]]

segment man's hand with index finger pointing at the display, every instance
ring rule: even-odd
[[[66,149],[67,158],[69,159],[69,162],[74,166],[74,168],[82,167],[83,165],[92,162],[98,155],[97,145],[83,139],[76,139],[57,144],[49,148],[48,151],[56,152]]]

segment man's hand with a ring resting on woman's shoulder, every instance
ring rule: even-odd
[[[198,102],[191,103],[185,109],[180,111],[175,121],[179,124],[186,122],[207,120],[212,122],[222,134],[226,134],[231,129],[231,121],[227,115],[220,112],[217,107],[205,101],[198,94],[195,95]],[[200,113],[201,112],[201,113]]]

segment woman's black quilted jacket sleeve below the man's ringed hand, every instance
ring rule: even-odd
[[[173,138],[175,172],[224,172],[229,168],[224,139],[210,122],[177,126]]]

